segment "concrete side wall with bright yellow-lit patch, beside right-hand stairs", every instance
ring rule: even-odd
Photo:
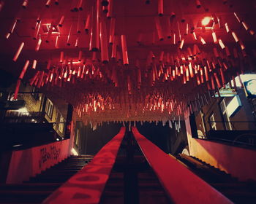
[[[185,119],[185,123],[190,155],[225,170],[241,181],[256,181],[256,151],[192,138],[189,119]]]

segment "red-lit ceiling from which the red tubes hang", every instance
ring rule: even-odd
[[[59,63],[59,56],[61,51],[64,51],[64,55],[67,60],[78,59],[78,52],[80,50],[83,52],[83,59],[85,61],[91,60],[92,52],[89,52],[90,35],[86,34],[83,28],[84,24],[86,23],[86,17],[89,13],[91,13],[92,6],[96,4],[96,0],[84,0],[83,10],[78,12],[72,12],[71,9],[74,7],[74,5],[77,4],[78,1],[80,0],[59,0],[59,5],[55,5],[54,0],[52,0],[50,7],[47,8],[45,7],[46,0],[29,0],[28,7],[26,9],[23,9],[21,7],[23,0],[4,1],[4,7],[0,12],[0,53],[1,56],[4,57],[4,59],[1,58],[2,63],[6,63],[6,61],[11,60],[13,58],[21,42],[25,42],[23,51],[21,52],[18,61],[16,63],[12,63],[13,69],[11,70],[11,72],[15,73],[16,71],[16,76],[20,74],[20,71],[22,70],[23,64],[25,63],[26,60],[36,59],[38,61],[38,68],[40,68],[41,70],[45,69],[47,61],[49,59],[52,60],[53,63]],[[239,15],[239,17],[241,17],[241,19],[244,20],[247,23],[247,25],[249,25],[250,29],[256,28],[255,1],[200,0],[200,3],[202,5],[200,8],[196,7],[196,1],[191,0],[164,0],[163,2],[164,15],[163,17],[159,17],[159,20],[163,29],[164,40],[159,42],[157,38],[157,30],[154,21],[155,17],[157,17],[158,12],[157,0],[151,0],[150,4],[145,4],[145,0],[113,0],[112,16],[116,18],[115,35],[118,36],[118,38],[120,38],[122,34],[127,36],[128,56],[130,61],[129,68],[134,66],[136,59],[140,60],[141,66],[146,66],[146,60],[148,58],[149,52],[151,51],[154,53],[154,55],[157,56],[157,58],[159,58],[160,52],[162,51],[165,51],[165,53],[170,52],[171,55],[180,55],[179,52],[187,52],[187,47],[193,47],[194,44],[197,44],[200,47],[200,49],[202,49],[206,53],[212,53],[213,47],[217,47],[218,50],[221,50],[218,44],[214,45],[211,36],[211,29],[206,29],[206,31],[202,31],[201,28],[197,28],[197,23],[200,23],[203,17],[206,16],[212,16],[215,18],[215,20],[217,19],[217,17],[219,18],[220,24],[215,25],[214,31],[216,31],[218,38],[222,39],[222,42],[224,42],[225,45],[228,45],[229,47],[240,48],[239,44],[236,44],[236,42],[234,41],[232,35],[227,34],[224,26],[225,23],[227,23],[230,29],[236,32],[238,38],[242,40],[244,44],[246,44],[246,47],[249,47],[249,50],[255,46],[255,36],[250,35],[249,32],[246,31],[243,26],[241,26],[241,23],[238,23],[235,15],[233,14],[234,12],[236,12]],[[223,2],[226,2],[226,4],[223,4]],[[178,40],[179,34],[178,26],[180,28],[181,38],[184,38],[184,47],[182,50],[178,52],[177,50],[179,45],[178,43],[173,44],[173,36],[171,37],[171,39],[167,39],[167,30],[169,28],[167,26],[167,20],[170,19],[171,12],[175,12],[176,14],[176,17],[172,18],[170,26],[170,29],[176,34],[176,42]],[[41,28],[39,34],[41,34],[42,36],[42,45],[39,51],[36,52],[34,49],[37,44],[37,40],[32,39],[34,36],[34,30],[32,28],[37,23],[37,17],[40,17],[42,19],[42,24],[53,23],[54,25],[57,26],[62,15],[64,15],[65,19],[63,27],[59,28],[59,47],[56,48],[55,46],[55,34],[50,36],[49,43],[45,42],[47,34],[43,34]],[[106,14],[103,12],[101,15],[102,19],[104,19],[107,24],[107,31],[109,37],[110,19],[107,19],[105,17]],[[17,23],[15,30],[10,35],[9,39],[6,39],[6,34],[8,33],[8,31],[10,31],[12,23],[17,18],[20,19],[20,22]],[[80,19],[81,22],[81,34],[77,33],[78,19]],[[185,20],[184,23],[181,22],[182,19]],[[187,24],[189,26],[189,34],[185,35]],[[70,33],[70,46],[68,46],[67,37],[69,35],[71,26],[72,30]],[[206,40],[206,45],[201,44],[199,40],[195,41],[195,39],[193,39],[192,34],[190,33],[192,27],[195,28],[195,34],[197,34],[197,38],[200,35],[203,37],[203,39]],[[142,40],[141,44],[138,44],[137,41],[138,36],[140,34],[142,34]],[[155,37],[153,40],[154,35]],[[77,37],[78,47],[75,47],[75,40]],[[110,55],[112,50],[110,46],[108,50]],[[121,52],[120,43],[118,44],[118,50]],[[97,53],[97,57],[100,60],[100,52]],[[106,80],[103,80],[101,82],[98,82],[96,80],[92,85],[80,84],[79,87],[75,87],[75,85],[70,85],[68,86],[69,91],[79,95],[84,92],[85,87],[86,91],[88,91],[89,93],[93,93],[94,87],[97,87],[97,92],[100,93],[99,90],[102,87],[105,87],[109,88],[110,90],[107,90],[104,93],[102,93],[103,95],[106,93],[110,93],[110,95],[115,95],[116,90],[112,91],[114,87],[109,82],[109,80],[113,76],[108,76],[109,74],[113,74],[113,70],[110,68],[111,66],[116,66],[113,61],[111,61],[108,66],[103,66],[102,74],[103,76],[107,75]],[[118,63],[118,66],[120,66],[120,63]],[[2,68],[6,69],[6,67],[4,66]],[[110,71],[108,71],[108,68],[110,68]],[[119,74],[120,77],[129,75],[126,72],[126,68],[127,67],[125,67],[124,70],[120,71],[120,73],[118,72],[117,75]],[[31,70],[31,68],[29,68],[25,78],[30,78],[30,76],[33,76],[34,73],[34,70]],[[131,77],[133,77],[133,75]],[[127,83],[127,79],[124,79],[123,82]],[[158,87],[161,86],[158,85]],[[165,85],[162,87],[163,89],[166,89],[166,87],[173,87],[173,85]],[[76,90],[79,91],[76,92]],[[147,90],[146,93],[148,93],[148,91],[150,93],[150,90]],[[64,93],[64,90],[59,90],[59,92],[62,94]],[[200,90],[200,92],[202,91]],[[141,99],[141,101],[145,101],[146,95],[139,93],[139,97],[143,98]],[[64,98],[66,98],[67,101],[72,101],[71,95],[67,95]],[[133,102],[129,101],[129,99],[127,100],[128,102],[126,101],[124,103],[133,104]],[[78,101],[73,101],[73,104],[78,105]],[[118,104],[118,106],[119,105],[120,104]],[[152,112],[151,119],[154,119],[154,115],[155,113]],[[143,118],[143,113],[141,113],[140,116],[141,118]],[[107,115],[105,114],[104,117],[107,117]],[[161,116],[159,116],[158,119],[159,118],[161,118]],[[118,119],[118,117],[116,117],[116,119]],[[124,119],[124,117],[122,117],[122,119]],[[136,119],[136,117],[134,119]]]

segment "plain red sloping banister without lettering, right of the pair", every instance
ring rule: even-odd
[[[173,203],[232,203],[217,189],[148,141],[136,127],[132,127],[132,133]]]

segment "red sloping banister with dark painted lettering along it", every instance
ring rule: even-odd
[[[125,127],[95,155],[82,170],[56,189],[43,203],[99,203],[116,161]]]

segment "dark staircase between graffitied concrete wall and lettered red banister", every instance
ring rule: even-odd
[[[54,190],[77,173],[93,155],[71,156],[23,184],[0,184],[0,203],[42,203]]]

